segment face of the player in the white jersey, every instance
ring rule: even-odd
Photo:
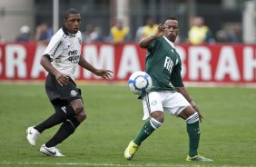
[[[64,19],[64,26],[71,34],[76,34],[80,28],[81,16],[80,14],[71,14]]]

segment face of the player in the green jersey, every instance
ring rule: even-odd
[[[180,33],[177,20],[166,20],[164,25],[168,27],[164,29],[164,36],[167,37],[172,43],[175,42],[177,35]]]

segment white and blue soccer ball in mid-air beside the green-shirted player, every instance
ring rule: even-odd
[[[152,79],[145,72],[134,72],[128,80],[128,87],[132,93],[141,95],[152,88]]]

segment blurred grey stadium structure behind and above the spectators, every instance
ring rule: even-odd
[[[59,2],[58,18],[60,22],[58,22],[58,26],[62,25],[66,8],[72,6],[78,8],[83,16],[82,32],[85,30],[86,25],[93,24],[103,27],[103,34],[109,34],[113,18],[118,17],[123,19],[124,25],[131,27],[131,32],[134,36],[136,29],[141,25],[145,25],[148,17],[153,17],[156,23],[162,23],[166,17],[176,15],[181,25],[183,42],[190,28],[189,19],[195,15],[201,15],[205,19],[205,24],[211,27],[213,34],[216,34],[225,24],[237,23],[242,26],[242,33],[246,35],[243,35],[244,42],[255,43],[255,0],[54,1]],[[29,25],[32,32],[35,31],[35,26],[41,23],[53,25],[54,1],[20,0],[15,2],[13,0],[1,0],[1,25],[9,25],[8,28],[6,26],[0,27],[2,36],[6,41],[14,41],[22,25]],[[252,36],[254,39],[248,39],[248,36]]]

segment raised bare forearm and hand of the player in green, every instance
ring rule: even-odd
[[[156,34],[154,35],[151,35],[151,36],[148,36],[148,37],[145,37],[143,38],[140,42],[139,42],[139,45],[140,47],[146,49],[149,47],[149,45],[155,40],[157,39],[158,37],[162,36],[163,35],[163,31],[164,31],[164,28],[167,28],[168,26],[166,25],[159,25],[158,26],[158,31],[156,32]]]

